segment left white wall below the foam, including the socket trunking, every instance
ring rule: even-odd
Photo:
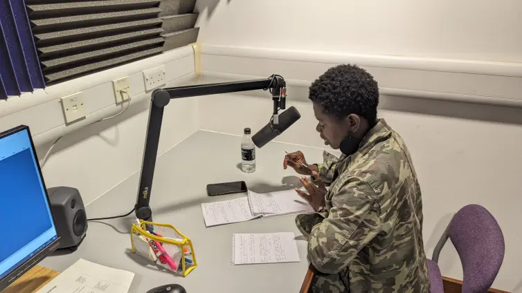
[[[194,51],[186,46],[162,55],[49,86],[35,93],[0,101],[0,129],[19,124],[30,127],[42,160],[60,135],[42,171],[47,187],[76,187],[84,203],[109,191],[141,167],[150,93],[145,91],[143,70],[165,64],[167,86],[192,81],[195,75]],[[132,104],[114,119],[87,126],[115,115],[126,104],[116,105],[112,80],[129,76]],[[82,91],[87,117],[65,124],[60,97]],[[174,100],[165,108],[159,155],[197,131],[197,100]],[[136,192],[138,182],[136,182]],[[129,194],[129,210],[136,194]]]

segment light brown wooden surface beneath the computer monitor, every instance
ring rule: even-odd
[[[59,274],[59,272],[46,267],[35,265],[2,293],[35,293]]]

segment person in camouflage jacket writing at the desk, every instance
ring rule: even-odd
[[[402,138],[377,119],[379,90],[357,66],[330,68],[310,86],[309,98],[325,144],[323,163],[285,156],[306,189],[296,191],[316,212],[296,225],[308,240],[316,269],[310,292],[429,293],[422,240],[422,198]],[[326,189],[325,185],[330,185]]]

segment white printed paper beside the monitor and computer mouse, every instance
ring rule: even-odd
[[[37,293],[127,293],[134,273],[80,258]]]

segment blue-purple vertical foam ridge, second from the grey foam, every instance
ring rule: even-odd
[[[11,57],[12,68],[15,70],[19,89],[22,92],[33,91],[33,85],[30,82],[24,51],[21,48],[15,17],[13,16],[9,0],[0,0],[0,22],[2,23],[3,37],[6,39],[7,50]]]

